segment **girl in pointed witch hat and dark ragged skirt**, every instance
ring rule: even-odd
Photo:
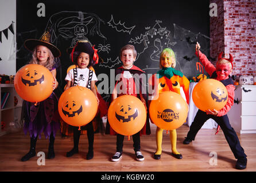
[[[27,39],[24,42],[26,49],[33,51],[32,59],[29,63],[39,64],[49,69],[53,75],[53,90],[58,86],[56,80],[56,69],[60,67],[60,50],[50,43],[51,33],[46,30],[40,39]],[[33,77],[33,76],[31,76]],[[53,92],[46,100],[34,105],[31,102],[24,101],[22,111],[24,111],[24,132],[30,134],[30,150],[21,158],[21,161],[28,161],[36,155],[37,137],[41,138],[44,132],[46,138],[49,137],[48,158],[55,157],[54,142],[55,134],[60,129],[60,116],[58,112],[58,100],[56,93]]]

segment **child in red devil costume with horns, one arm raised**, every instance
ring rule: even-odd
[[[208,110],[207,112],[203,112],[199,109],[198,112],[196,113],[194,121],[192,122],[192,125],[189,128],[187,137],[185,137],[185,140],[183,141],[183,144],[189,144],[192,140],[195,140],[196,134],[201,129],[204,122],[212,118],[218,123],[220,128],[222,128],[228,145],[230,146],[232,153],[237,159],[235,168],[245,169],[247,165],[247,156],[242,146],[240,145],[238,136],[236,135],[235,130],[231,127],[227,116],[227,112],[231,109],[231,106],[234,104],[235,95],[234,82],[230,77],[230,73],[232,72],[233,68],[232,55],[230,54],[230,58],[227,59],[222,58],[222,53],[220,53],[215,68],[215,66],[212,65],[210,61],[208,61],[207,57],[203,53],[201,53],[201,51],[199,51],[199,43],[196,44],[196,55],[197,49],[199,52],[199,59],[201,63],[203,63],[203,66],[205,67],[207,73],[211,75],[211,78],[222,82],[223,85],[226,86],[228,92],[228,101],[224,108],[220,109],[219,111],[214,109],[213,111]]]

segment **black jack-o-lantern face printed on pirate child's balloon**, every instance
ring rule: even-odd
[[[67,101],[65,102],[65,107],[62,108],[62,112],[67,117],[75,117],[83,112],[83,106],[81,104],[77,104],[75,101]]]

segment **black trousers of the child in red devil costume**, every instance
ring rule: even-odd
[[[224,116],[218,117],[218,116],[206,114],[205,112],[199,109],[198,112],[196,113],[194,121],[192,122],[192,125],[189,128],[187,138],[190,140],[195,140],[197,132],[204,125],[205,121],[209,120],[210,118],[216,121],[217,124],[220,125],[220,128],[222,128],[224,136],[235,158],[237,159],[237,158],[247,157],[245,154],[245,151],[240,145],[240,142],[239,142],[238,136],[235,133],[235,130],[230,125],[230,121],[228,120],[227,114]]]

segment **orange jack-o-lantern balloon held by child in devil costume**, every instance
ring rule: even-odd
[[[192,93],[193,102],[204,112],[220,110],[227,104],[228,93],[222,82],[216,79],[205,79],[196,84]]]

